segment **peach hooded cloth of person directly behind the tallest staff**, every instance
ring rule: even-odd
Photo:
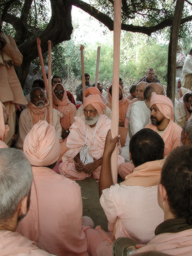
[[[109,88],[111,88],[111,86],[109,86]],[[106,103],[106,105],[108,106],[108,108],[111,109],[112,108],[112,106],[111,106],[112,97],[111,97],[111,94],[109,93],[109,88],[108,88],[109,100]],[[120,90],[122,90],[122,100],[119,100],[119,122],[125,122],[125,116],[127,113],[127,108],[129,106],[129,100],[124,97],[124,90],[122,89],[122,86],[119,86],[119,88],[120,88]]]

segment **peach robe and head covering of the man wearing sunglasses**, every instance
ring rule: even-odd
[[[61,118],[61,126],[66,131],[74,122],[74,116],[76,116],[76,106],[72,104],[70,100],[68,100],[67,92],[64,87],[63,99],[59,100],[54,93],[56,86],[57,84],[52,87],[52,108],[57,109],[63,115]]]

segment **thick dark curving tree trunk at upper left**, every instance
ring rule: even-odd
[[[45,28],[38,37],[41,40],[42,53],[48,51],[48,40],[51,40],[53,46],[63,41],[70,40],[72,34],[72,19],[71,19],[72,4],[67,0],[51,0],[52,16],[47,28]],[[23,62],[17,68],[17,76],[19,77],[22,88],[28,76],[29,66],[32,60],[38,57],[36,47],[36,37],[19,45],[19,51],[23,55]]]

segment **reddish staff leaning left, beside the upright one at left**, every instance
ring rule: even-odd
[[[44,59],[43,59],[43,56],[42,56],[42,49],[41,49],[41,45],[40,45],[41,44],[41,40],[40,40],[39,37],[36,38],[36,44],[37,44],[37,49],[38,49],[38,58],[40,60],[40,65],[42,67],[42,75],[43,75],[43,79],[44,79],[44,83],[45,83],[45,90],[47,92],[47,97],[49,99],[49,89],[48,89],[47,77],[46,77],[46,73],[45,73]],[[48,76],[49,76],[49,74],[48,74]],[[49,124],[51,124],[50,123],[50,121],[51,121],[50,118],[52,119],[50,111],[52,111],[52,110],[50,108],[50,102],[49,102]]]

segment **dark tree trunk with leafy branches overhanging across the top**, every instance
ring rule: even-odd
[[[38,56],[36,37],[42,42],[42,52],[47,51],[47,41],[53,46],[72,35],[72,5],[81,8],[95,19],[113,30],[113,0],[2,0],[0,12],[4,29],[14,34],[15,42],[24,56],[18,76],[22,83],[28,74],[32,60]],[[172,25],[175,0],[122,0],[122,29],[151,35]],[[190,1],[185,1],[183,26],[192,19]],[[51,13],[51,14],[50,14]],[[10,27],[11,25],[11,27]],[[188,26],[189,29],[189,26]],[[184,28],[183,31],[187,29]]]

